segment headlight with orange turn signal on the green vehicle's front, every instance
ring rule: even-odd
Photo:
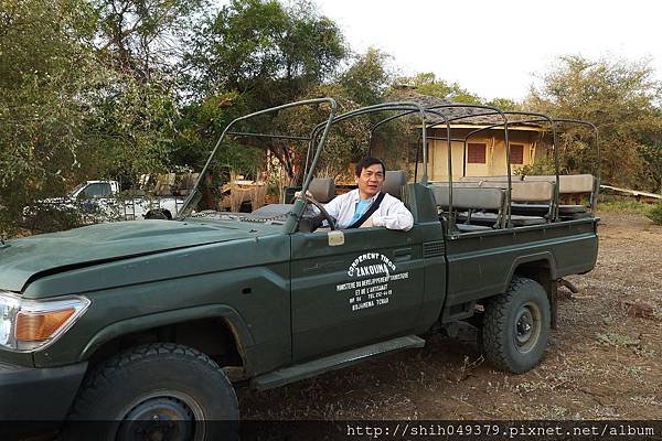
[[[26,300],[0,291],[0,346],[34,352],[55,342],[85,313],[89,299]]]

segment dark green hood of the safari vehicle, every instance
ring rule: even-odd
[[[135,220],[10,240],[0,245],[0,289],[18,292],[42,273],[260,235],[235,224]]]

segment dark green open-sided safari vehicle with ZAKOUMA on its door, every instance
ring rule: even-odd
[[[309,137],[233,131],[310,107],[329,115]],[[501,181],[428,182],[423,149],[417,182],[389,171],[384,184],[412,212],[410,230],[339,230],[332,218],[314,229],[308,209],[323,215],[334,194],[316,166],[337,125],[415,118],[426,146],[433,116],[450,130],[449,121],[477,112],[503,117],[508,135],[511,116],[484,106],[387,103],[337,114],[333,99],[320,98],[266,109],[225,129],[177,218],[2,243],[0,418],[50,421],[65,435],[83,427],[74,421],[103,420],[116,421],[107,439],[217,439],[221,427],[205,421],[239,419],[227,368],[234,380],[273,388],[423,347],[425,336],[452,335],[461,321],[479,327],[494,366],[532,369],[555,326],[558,280],[596,263],[592,175],[527,181],[509,166]],[[231,137],[308,142],[301,194],[313,197],[245,214],[196,211]],[[589,204],[560,204],[564,185],[581,179]]]

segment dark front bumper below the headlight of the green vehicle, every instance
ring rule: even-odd
[[[0,421],[64,421],[87,362],[33,368],[0,362]]]

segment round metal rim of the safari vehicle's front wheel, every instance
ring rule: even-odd
[[[117,441],[203,440],[204,420],[197,401],[180,391],[159,390],[140,396],[120,413]]]

